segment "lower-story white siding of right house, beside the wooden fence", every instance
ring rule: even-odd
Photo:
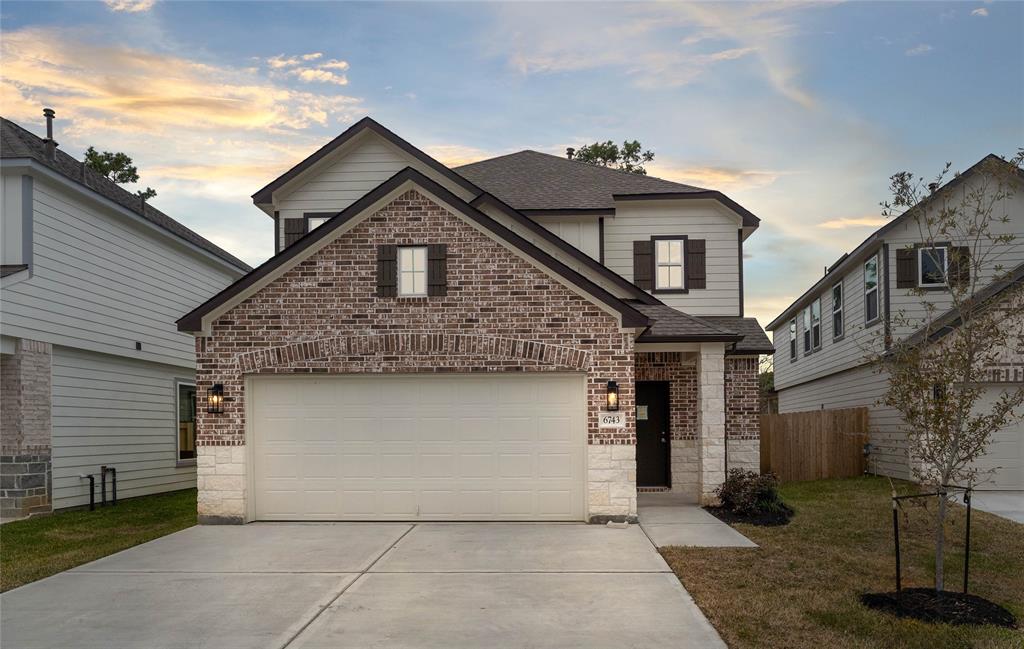
[[[908,479],[910,466],[906,435],[900,430],[902,418],[893,408],[881,404],[888,385],[885,375],[878,375],[868,366],[857,367],[779,390],[778,412],[868,407],[872,446],[870,470]]]

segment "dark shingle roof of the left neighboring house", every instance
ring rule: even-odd
[[[129,210],[146,221],[159,225],[171,234],[182,239],[197,248],[226,261],[239,270],[249,271],[252,267],[219,246],[206,240],[167,216],[157,208],[142,201],[113,180],[85,166],[84,162],[56,149],[53,160],[46,155],[46,144],[38,135],[22,128],[6,118],[0,118],[0,158],[4,160],[26,159],[50,169],[65,178],[90,189],[102,198]]]

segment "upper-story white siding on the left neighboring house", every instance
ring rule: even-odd
[[[4,335],[194,367],[175,320],[241,271],[49,180],[33,194],[33,276],[3,290]]]

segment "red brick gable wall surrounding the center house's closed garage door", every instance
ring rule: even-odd
[[[447,244],[447,295],[378,298],[377,245]],[[224,414],[197,443],[245,443],[253,373],[587,372],[590,443],[635,443],[633,340],[618,319],[412,190],[215,320],[197,339],[197,387],[223,383]],[[624,430],[599,430],[605,381]]]

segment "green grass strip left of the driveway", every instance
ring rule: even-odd
[[[196,489],[0,526],[0,592],[196,524]]]

